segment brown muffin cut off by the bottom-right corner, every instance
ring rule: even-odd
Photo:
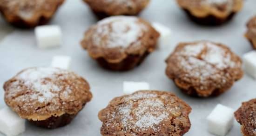
[[[243,103],[235,112],[235,117],[242,125],[243,136],[256,136],[256,99]]]

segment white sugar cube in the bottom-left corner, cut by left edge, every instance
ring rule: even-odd
[[[0,110],[0,132],[7,136],[17,136],[25,131],[25,119],[20,118],[10,108]]]

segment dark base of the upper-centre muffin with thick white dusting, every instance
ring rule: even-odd
[[[104,58],[97,58],[97,62],[103,68],[112,71],[128,71],[133,69],[135,66],[140,65],[143,60],[148,56],[149,52],[145,52],[143,55],[128,55],[127,58],[119,63],[109,63]]]

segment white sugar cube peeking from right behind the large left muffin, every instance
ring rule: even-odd
[[[52,67],[61,69],[69,69],[71,58],[69,56],[54,56],[52,60]]]

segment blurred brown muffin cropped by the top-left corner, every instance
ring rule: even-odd
[[[31,28],[46,24],[64,0],[0,0],[0,12],[13,26]]]

